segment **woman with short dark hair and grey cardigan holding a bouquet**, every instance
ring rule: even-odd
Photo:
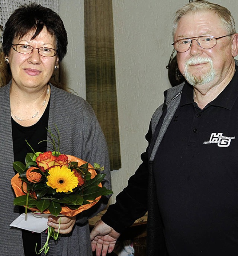
[[[1,255],[32,256],[36,242],[43,245],[46,234],[9,227],[19,216],[18,207],[13,206],[15,196],[10,185],[15,175],[12,162],[24,162],[26,153],[31,151],[25,140],[36,152],[52,150],[50,143],[38,142],[47,140],[46,128],[52,130],[56,124],[60,131],[61,153],[104,166],[103,185],[110,188],[107,146],[89,104],[49,83],[67,51],[67,33],[57,13],[37,4],[16,9],[4,29],[3,51],[12,80],[0,89],[0,252]],[[101,211],[106,203],[107,199],[102,198],[76,217],[62,217],[62,235],[57,244],[51,242],[48,256],[91,255],[87,218]],[[57,231],[59,219],[50,216],[48,225]]]

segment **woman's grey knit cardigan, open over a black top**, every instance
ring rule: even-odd
[[[13,206],[14,192],[11,178],[15,175],[12,163],[13,141],[9,89],[11,82],[0,89],[0,255],[23,256],[21,230],[9,227],[18,217]],[[81,97],[51,85],[48,126],[60,131],[60,152],[79,157],[91,164],[105,167],[103,186],[111,188],[107,145],[91,106]],[[52,150],[48,143],[47,150]],[[77,215],[76,225],[68,235],[61,235],[57,244],[52,241],[48,256],[90,256],[91,245],[87,219],[102,211],[107,198],[102,198],[93,208]],[[42,244],[46,241],[42,233]],[[43,255],[43,254],[42,254]]]

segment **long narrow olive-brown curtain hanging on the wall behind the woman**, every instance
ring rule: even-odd
[[[121,168],[112,0],[84,0],[86,100],[109,148],[110,168]]]

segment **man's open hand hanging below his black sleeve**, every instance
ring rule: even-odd
[[[93,252],[96,250],[96,256],[100,256],[101,253],[102,256],[106,256],[107,251],[111,253],[119,236],[120,233],[102,220],[97,221],[90,234]]]

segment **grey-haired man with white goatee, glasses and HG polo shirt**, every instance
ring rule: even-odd
[[[176,12],[186,82],[165,92],[142,164],[91,233],[97,256],[146,211],[148,255],[237,256],[238,35],[229,10],[197,0]],[[147,182],[148,180],[148,186]]]

